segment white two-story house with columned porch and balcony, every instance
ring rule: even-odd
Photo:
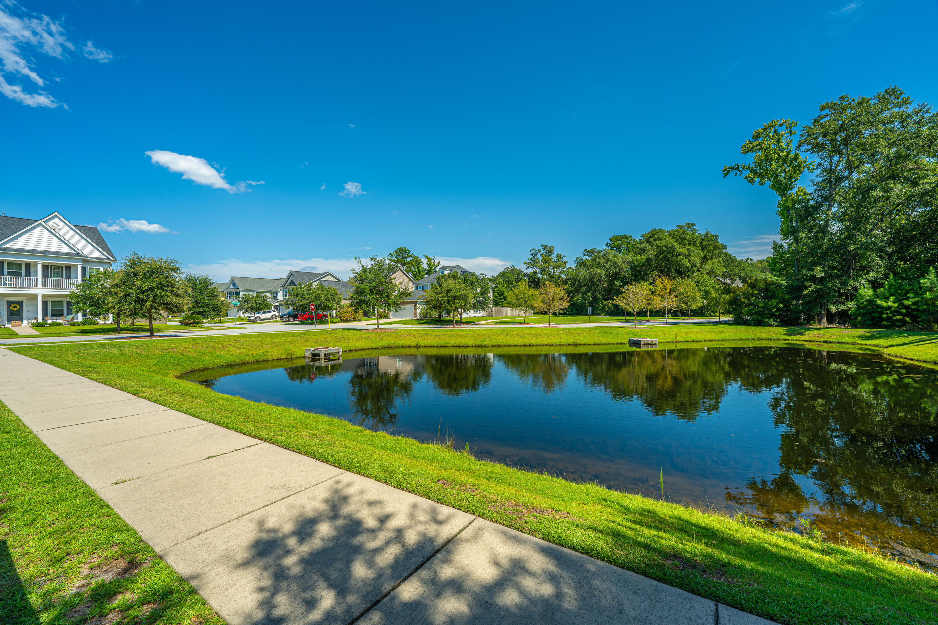
[[[71,290],[114,262],[97,228],[58,213],[38,220],[0,216],[0,325],[74,314]]]

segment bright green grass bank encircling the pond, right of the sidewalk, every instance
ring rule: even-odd
[[[329,342],[349,353],[416,345],[421,349],[622,345],[629,336],[638,335],[658,338],[661,347],[672,349],[692,347],[691,341],[825,343],[825,349],[871,350],[938,362],[938,335],[837,328],[689,325],[461,333],[401,328],[389,334],[340,330],[329,336]],[[11,349],[781,623],[885,625],[938,619],[938,578],[876,554],[479,461],[438,445],[217,394],[177,379],[194,369],[301,356],[309,340],[302,333],[281,333]]]

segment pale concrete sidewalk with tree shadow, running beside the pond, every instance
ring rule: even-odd
[[[8,350],[0,370],[0,400],[233,625],[769,623]]]

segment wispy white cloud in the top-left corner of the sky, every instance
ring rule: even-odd
[[[20,16],[13,15],[19,13]],[[26,106],[43,106],[54,109],[59,102],[46,92],[27,93],[23,85],[10,84],[6,76],[20,75],[37,84],[45,86],[30,61],[32,57],[21,48],[29,47],[53,58],[65,60],[66,50],[75,46],[68,41],[61,22],[55,22],[48,15],[39,15],[26,11],[16,2],[0,3],[0,94],[16,100]]]

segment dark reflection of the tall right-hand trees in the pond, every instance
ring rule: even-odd
[[[769,402],[775,424],[785,428],[779,476],[771,483],[753,479],[747,493],[727,499],[789,521],[813,505],[816,523],[832,540],[858,541],[853,532],[862,527],[866,535],[935,551],[935,376],[911,377],[903,365],[856,355],[798,353],[800,362],[792,364],[798,375]],[[820,495],[803,493],[794,475],[808,476]]]

